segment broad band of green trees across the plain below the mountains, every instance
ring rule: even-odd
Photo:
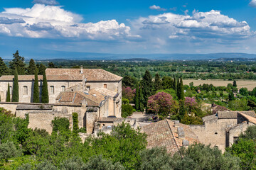
[[[18,57],[18,60],[17,60]],[[33,59],[32,59],[33,60]],[[33,60],[25,62],[25,58],[14,53],[11,62],[4,62],[0,57],[0,76],[14,73],[14,63],[21,67],[18,74],[33,74],[34,64],[38,67],[38,74],[48,68],[80,68],[105,69],[121,77],[131,76],[142,79],[144,72],[149,70],[152,76],[158,73],[161,77],[183,77],[183,79],[256,79],[256,61],[86,61],[86,60]],[[31,66],[32,64],[32,66]]]

